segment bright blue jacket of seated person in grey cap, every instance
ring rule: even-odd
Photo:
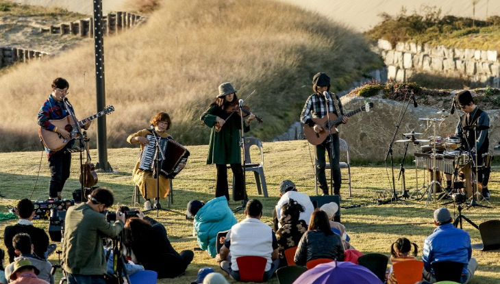
[[[423,245],[423,263],[425,270],[431,272],[431,264],[438,261],[456,261],[464,263],[463,274],[472,256],[471,237],[453,224],[443,224],[425,239]]]

